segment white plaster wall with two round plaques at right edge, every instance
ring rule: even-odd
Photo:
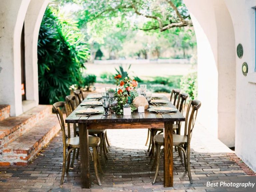
[[[256,72],[255,68],[255,0],[225,0],[234,31],[235,48],[241,43],[244,54],[236,56],[236,144],[235,152],[256,171]],[[236,51],[236,49],[234,49]],[[248,74],[242,74],[247,62]]]

